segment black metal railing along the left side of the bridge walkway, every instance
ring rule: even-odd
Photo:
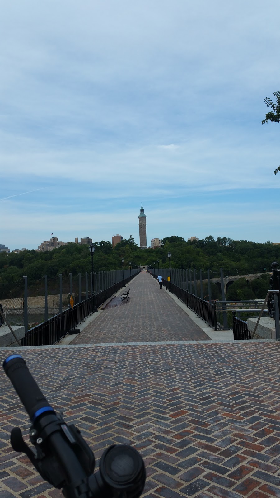
[[[139,273],[139,271],[138,271]],[[137,273],[136,273],[137,274]],[[135,275],[125,278],[128,283]],[[55,315],[49,320],[28,330],[25,337],[21,339],[21,346],[52,346],[64,337],[70,330],[73,330],[87,316],[93,313],[94,305],[99,307],[111,296],[120,290],[123,281],[115,283],[111,287],[99,292],[95,298],[90,297],[68,308],[62,313]]]

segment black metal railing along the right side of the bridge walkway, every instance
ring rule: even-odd
[[[157,275],[151,273],[154,278]],[[188,290],[182,289],[172,282],[162,279],[163,285],[175,294],[188,308],[194,311],[202,320],[208,323],[214,330],[218,330],[215,303],[209,303],[200,297],[191,294]]]

